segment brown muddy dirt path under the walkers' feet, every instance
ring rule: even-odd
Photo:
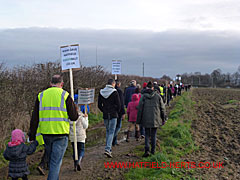
[[[102,129],[105,131],[103,125],[98,125],[98,130]],[[95,128],[92,128],[95,130]],[[85,156],[82,162],[82,170],[80,172],[73,171],[73,160],[71,153],[71,146],[68,147],[68,150],[63,159],[63,164],[61,167],[60,177],[62,180],[81,180],[81,179],[124,179],[123,175],[128,171],[128,169],[106,169],[104,162],[132,162],[140,159],[133,152],[133,149],[137,145],[143,144],[144,141],[136,141],[133,137],[131,141],[127,143],[124,139],[124,131],[126,128],[121,131],[120,145],[112,148],[113,158],[107,158],[104,153],[104,140],[102,139],[103,134],[97,134],[99,137],[98,145],[89,147],[85,149]],[[91,136],[91,138],[95,138]],[[100,144],[102,143],[102,144]],[[30,179],[33,180],[44,180],[46,177],[40,176],[36,170],[31,172]]]

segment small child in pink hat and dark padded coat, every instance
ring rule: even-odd
[[[38,142],[34,141],[29,146],[24,143],[25,135],[22,130],[13,130],[11,141],[3,153],[4,158],[10,161],[8,176],[11,177],[12,180],[17,180],[18,178],[27,180],[27,175],[30,174],[26,157],[36,151]]]

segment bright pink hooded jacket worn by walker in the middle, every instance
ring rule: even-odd
[[[127,108],[129,122],[136,122],[136,120],[137,120],[138,103],[139,103],[139,95],[133,94],[132,101],[130,103],[128,103],[128,108]]]

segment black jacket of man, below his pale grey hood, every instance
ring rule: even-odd
[[[118,118],[121,103],[117,91],[114,91],[108,98],[104,98],[101,93],[98,96],[98,108],[103,112],[103,119]]]

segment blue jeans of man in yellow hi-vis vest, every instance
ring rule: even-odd
[[[62,159],[68,146],[68,136],[43,135],[46,153],[49,157],[48,180],[59,180]]]

